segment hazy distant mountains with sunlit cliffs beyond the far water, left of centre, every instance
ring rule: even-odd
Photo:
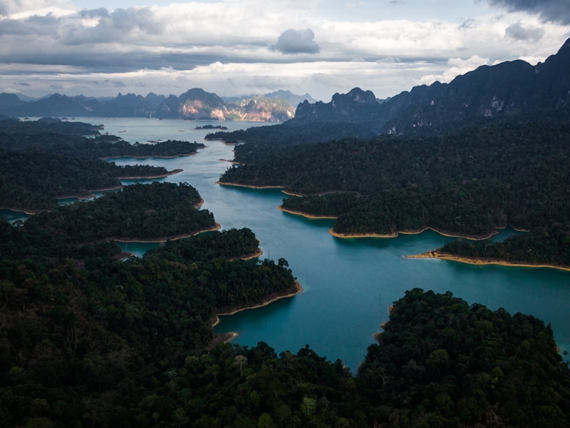
[[[0,116],[157,117],[282,122],[294,117],[299,100],[314,101],[308,94],[297,96],[289,91],[226,101],[217,94],[200,88],[192,88],[180,96],[168,97],[155,93],[149,93],[145,97],[134,93],[119,93],[115,98],[88,98],[54,93],[33,101],[24,101],[12,93],[0,93]]]

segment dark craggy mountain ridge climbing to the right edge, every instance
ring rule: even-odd
[[[450,83],[416,86],[388,100],[354,88],[330,103],[299,104],[294,122],[364,126],[375,133],[410,133],[497,118],[537,118],[570,112],[570,39],[558,53],[532,66],[508,61],[480,66]]]

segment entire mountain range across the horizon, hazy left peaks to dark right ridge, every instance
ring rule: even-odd
[[[289,91],[223,98],[200,88],[180,96],[119,93],[115,98],[89,98],[56,93],[33,101],[24,101],[13,93],[0,93],[0,115],[4,116],[267,121],[287,122],[288,129],[314,123],[331,123],[338,128],[340,123],[346,123],[348,133],[358,128],[359,135],[435,132],[497,118],[554,115],[568,120],[569,112],[570,39],[556,54],[535,66],[522,60],[480,66],[450,83],[415,86],[385,100],[378,100],[372,91],[361,88],[335,93],[329,103]]]

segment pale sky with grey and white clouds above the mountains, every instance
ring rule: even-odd
[[[570,0],[0,0],[0,92],[385,98],[569,37]]]

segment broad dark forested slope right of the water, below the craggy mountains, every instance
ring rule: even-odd
[[[286,198],[283,206],[338,216],[337,233],[391,235],[431,227],[482,236],[507,223],[522,229],[569,223],[569,141],[570,127],[558,123],[346,139],[233,165],[220,181],[311,195]]]

